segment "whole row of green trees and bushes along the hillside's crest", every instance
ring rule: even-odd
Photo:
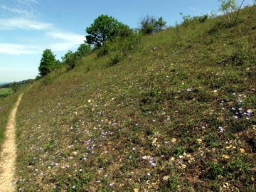
[[[228,18],[226,21],[229,22],[232,20],[231,18],[233,18],[233,21],[236,21],[242,4],[238,7],[238,3],[235,0],[218,1],[221,2],[219,11],[222,11],[223,18]],[[238,11],[238,14],[235,11]],[[185,27],[195,26],[197,23],[203,23],[209,18],[208,14],[193,17],[180,14],[183,18],[180,26]],[[220,14],[215,14],[215,16],[220,16]],[[211,14],[211,17],[214,17],[214,14]],[[162,17],[143,16],[139,18],[138,28],[132,29],[126,24],[117,21],[117,19],[112,18],[112,16],[101,15],[95,19],[90,27],[86,28],[85,31],[88,35],[85,36],[85,42],[80,44],[75,53],[68,50],[68,53],[61,57],[62,61],[56,60],[55,55],[50,49],[44,50],[38,67],[39,75],[36,79],[43,78],[50,71],[58,70],[63,68],[63,66],[66,67],[66,70],[72,70],[80,58],[94,50],[97,50],[97,57],[119,51],[117,55],[110,55],[110,60],[106,64],[107,67],[110,67],[122,60],[123,56],[132,54],[140,48],[140,41],[143,36],[157,33],[164,30],[164,28],[166,28],[166,21]]]

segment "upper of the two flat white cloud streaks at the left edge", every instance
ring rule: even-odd
[[[0,30],[9,30],[9,29],[25,29],[25,30],[46,30],[53,28],[52,23],[43,23],[39,21],[33,21],[26,18],[0,18]]]

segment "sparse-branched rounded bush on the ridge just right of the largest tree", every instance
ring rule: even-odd
[[[163,30],[166,27],[166,21],[164,21],[162,17],[156,18],[154,16],[146,15],[139,18],[138,25],[139,31],[150,34]]]

